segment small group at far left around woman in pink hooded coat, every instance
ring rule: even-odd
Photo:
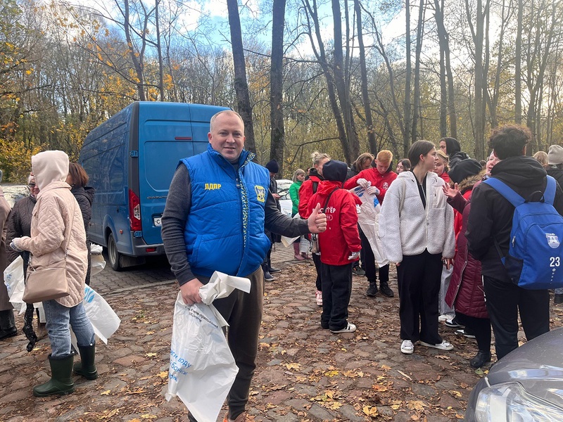
[[[89,380],[98,376],[94,364],[94,329],[84,312],[84,285],[89,284],[90,243],[87,230],[94,189],[87,186],[84,169],[70,163],[63,151],[44,151],[32,156],[32,173],[27,178],[30,196],[6,209],[0,195],[0,223],[4,226],[0,245],[0,270],[18,257],[23,272],[63,268],[67,295],[44,300],[37,309],[37,333],[32,321],[34,304],[27,304],[23,332],[30,352],[37,340],[49,336],[51,379],[33,388],[36,397],[74,392],[72,373]],[[0,191],[1,193],[1,191]],[[64,280],[60,280],[63,283]],[[4,283],[0,286],[0,340],[18,333],[13,306]],[[41,312],[39,312],[41,311]],[[70,327],[76,335],[78,352],[70,341]],[[74,363],[80,353],[80,362]]]

